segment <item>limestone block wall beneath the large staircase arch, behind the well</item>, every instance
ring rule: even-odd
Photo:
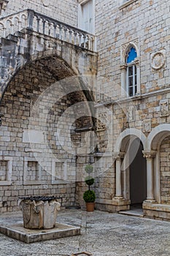
[[[55,81],[36,61],[18,72],[4,94],[0,127],[1,212],[18,210],[18,197],[26,195],[60,196],[63,206],[74,202],[76,157],[64,148],[69,136],[67,116],[62,118],[62,124],[58,122],[71,102],[62,96],[63,89],[57,84],[34,107],[39,95]],[[62,136],[58,135],[59,130]]]

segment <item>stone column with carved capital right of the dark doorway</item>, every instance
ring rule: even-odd
[[[153,192],[153,159],[155,151],[143,151],[144,157],[147,159],[147,202],[155,202]]]

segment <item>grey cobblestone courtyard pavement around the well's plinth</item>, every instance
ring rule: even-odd
[[[0,214],[0,222],[15,223],[22,214]],[[102,211],[62,210],[58,222],[82,227],[82,235],[24,244],[0,234],[1,256],[70,256],[90,252],[93,256],[170,255],[170,222],[128,217]]]

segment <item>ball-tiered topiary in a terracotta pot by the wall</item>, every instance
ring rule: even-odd
[[[88,173],[88,177],[85,178],[85,183],[88,185],[88,190],[86,190],[83,194],[83,199],[86,203],[86,211],[94,211],[94,202],[96,199],[95,192],[93,190],[90,190],[90,186],[94,184],[94,178],[90,176],[90,173],[93,172],[93,166],[92,165],[86,165],[85,171]]]

